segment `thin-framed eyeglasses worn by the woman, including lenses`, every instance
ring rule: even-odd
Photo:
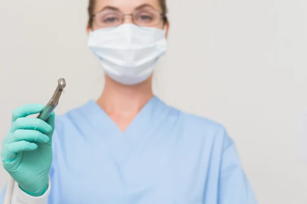
[[[153,27],[161,23],[165,15],[155,9],[136,10],[131,14],[124,14],[111,9],[102,10],[93,15],[94,24],[99,28],[116,27],[124,22],[125,16],[131,16],[134,24]]]

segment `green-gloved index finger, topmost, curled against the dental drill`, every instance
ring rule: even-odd
[[[41,104],[27,104],[16,108],[12,114],[12,122],[21,117],[27,117],[28,115],[40,113],[44,107],[45,106]]]

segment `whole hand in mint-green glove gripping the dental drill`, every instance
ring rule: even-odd
[[[26,117],[39,113],[43,107],[29,104],[15,109],[11,129],[2,143],[3,167],[20,189],[31,196],[41,196],[48,189],[52,163],[54,113],[46,122]]]

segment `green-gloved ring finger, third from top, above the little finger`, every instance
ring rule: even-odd
[[[35,130],[16,130],[14,133],[10,133],[4,140],[6,144],[11,144],[13,142],[18,141],[28,141],[28,142],[39,142],[39,143],[47,143],[49,142],[50,138]]]

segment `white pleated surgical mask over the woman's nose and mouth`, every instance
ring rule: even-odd
[[[88,45],[105,73],[125,85],[148,79],[166,53],[164,30],[128,23],[91,32]]]

